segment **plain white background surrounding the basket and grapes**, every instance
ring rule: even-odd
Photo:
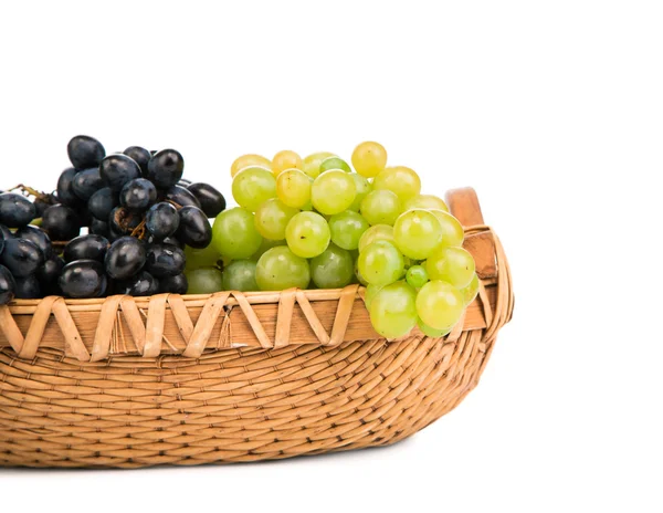
[[[219,2],[220,3],[220,2]],[[661,511],[660,2],[2,2],[0,187],[66,143],[243,153],[380,140],[472,185],[516,311],[478,388],[392,448],[146,471],[0,470],[19,511]]]

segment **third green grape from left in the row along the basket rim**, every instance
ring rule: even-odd
[[[308,262],[286,245],[265,251],[255,266],[255,281],[261,291],[306,289],[311,282]]]

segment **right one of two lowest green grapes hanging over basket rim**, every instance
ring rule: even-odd
[[[451,283],[428,282],[417,295],[417,314],[433,329],[450,329],[465,310],[462,294]]]

